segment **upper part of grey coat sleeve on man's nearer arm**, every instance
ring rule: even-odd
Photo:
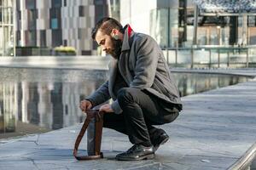
[[[159,58],[158,44],[151,37],[139,37],[135,44],[136,66],[132,88],[150,88],[154,82]]]

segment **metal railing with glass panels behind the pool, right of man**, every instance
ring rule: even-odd
[[[169,65],[186,67],[256,67],[256,45],[163,48]]]

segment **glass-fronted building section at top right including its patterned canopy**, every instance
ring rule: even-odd
[[[201,32],[201,34],[211,34],[211,31],[217,32],[218,37],[216,37],[216,40],[218,45],[256,44],[255,1],[195,0],[195,4],[199,9],[199,29],[197,31]],[[214,27],[215,30],[212,30]],[[198,34],[199,44],[205,43],[203,38],[211,40],[209,36],[202,37]]]

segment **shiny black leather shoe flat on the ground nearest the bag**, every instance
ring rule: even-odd
[[[153,146],[146,147],[142,144],[134,144],[129,150],[115,156],[119,161],[139,161],[144,159],[153,159]]]

